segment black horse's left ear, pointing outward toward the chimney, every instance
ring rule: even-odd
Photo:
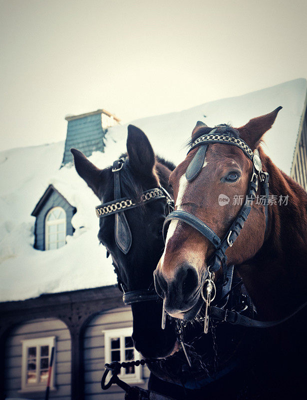
[[[96,196],[99,197],[101,170],[92,164],[81,151],[77,150],[76,148],[71,148],[70,151],[72,152],[74,158],[74,166],[76,171],[81,178],[85,180]]]

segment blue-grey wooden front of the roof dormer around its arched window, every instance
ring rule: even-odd
[[[66,235],[72,235],[74,228],[71,224],[71,218],[75,213],[75,207],[72,207],[61,195],[52,190],[44,204],[39,210],[35,221],[35,242],[34,248],[38,250],[45,249],[45,217],[47,212],[53,207],[62,207],[66,212]]]

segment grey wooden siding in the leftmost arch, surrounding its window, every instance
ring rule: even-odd
[[[71,345],[69,330],[64,322],[55,318],[34,319],[17,326],[6,340],[5,394],[12,398],[43,400],[44,392],[20,392],[21,388],[21,340],[55,336],[55,387],[49,398],[70,399]]]

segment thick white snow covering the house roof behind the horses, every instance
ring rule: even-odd
[[[156,153],[179,163],[197,120],[208,126],[225,122],[241,126],[282,105],[273,128],[265,135],[264,149],[290,174],[306,91],[307,81],[296,79],[130,123],[144,130]],[[100,168],[111,165],[125,151],[126,137],[127,125],[110,128],[105,153],[94,152],[89,159]],[[111,259],[98,244],[94,207],[99,200],[73,166],[59,169],[63,151],[64,142],[59,142],[0,153],[0,301],[116,283]],[[31,212],[50,183],[77,208],[72,218],[75,232],[67,236],[65,246],[39,251],[33,248],[35,218]]]

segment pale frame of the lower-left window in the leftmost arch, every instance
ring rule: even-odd
[[[39,348],[40,346],[49,346],[49,354],[48,354],[48,364],[50,363],[51,357],[51,349],[54,347],[54,354],[53,354],[53,364],[52,364],[52,371],[50,377],[50,390],[55,390],[56,387],[54,386],[54,366],[55,366],[55,336],[48,336],[48,337],[36,337],[33,339],[25,339],[21,340],[22,343],[22,358],[21,358],[21,390],[19,392],[34,392],[34,391],[44,391],[46,390],[46,382],[35,382],[35,383],[27,383],[26,376],[27,376],[27,349],[28,347],[36,347],[36,379],[39,378],[39,371],[40,371],[40,353]]]

